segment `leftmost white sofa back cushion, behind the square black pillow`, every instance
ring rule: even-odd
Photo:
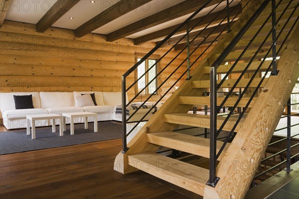
[[[7,110],[15,109],[13,95],[32,95],[32,103],[34,108],[40,108],[40,98],[38,92],[12,92],[0,93],[0,111],[3,113]]]

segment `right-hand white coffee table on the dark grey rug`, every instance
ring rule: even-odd
[[[77,113],[62,113],[63,116],[63,131],[65,131],[65,119],[70,118],[71,120],[71,135],[74,135],[74,118],[84,117],[85,118],[85,129],[88,129],[88,117],[94,117],[94,132],[98,132],[98,114],[91,112],[77,112]]]

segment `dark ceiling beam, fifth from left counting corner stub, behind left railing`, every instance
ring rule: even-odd
[[[235,7],[235,6],[234,6]],[[242,8],[241,5],[236,5],[236,7],[233,9],[233,7],[231,8],[231,12],[230,12],[230,17],[233,17],[235,16],[236,14],[238,14],[239,10]],[[219,15],[218,15],[219,14]],[[241,14],[241,13],[240,13]],[[217,16],[218,15],[218,16]],[[221,11],[217,11],[217,12],[214,12],[214,13],[211,13],[211,14],[208,14],[205,16],[202,16],[202,17],[198,17],[198,18],[195,18],[195,19],[192,19],[189,21],[189,27],[193,27],[195,26],[196,24],[196,27],[197,28],[200,28],[200,27],[205,27],[209,22],[211,22],[211,19],[213,19],[214,17],[216,17],[214,19],[214,23],[219,23],[221,22],[221,20],[227,16],[227,10],[221,10]],[[145,43],[145,42],[148,42],[148,41],[151,41],[151,40],[154,40],[154,39],[158,39],[158,38],[163,38],[165,36],[167,36],[168,34],[170,34],[175,28],[177,28],[179,26],[178,25],[173,25],[171,27],[167,27],[167,28],[164,28],[162,30],[159,30],[159,31],[156,31],[156,32],[152,32],[152,33],[149,33],[147,35],[144,35],[144,36],[141,36],[141,37],[138,37],[138,38],[135,38],[135,45],[140,45],[142,43]],[[184,33],[186,32],[186,28],[185,27],[182,27],[178,32],[177,34],[179,33]]]

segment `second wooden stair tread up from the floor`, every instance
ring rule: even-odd
[[[147,141],[155,145],[168,147],[170,149],[176,149],[197,156],[202,156],[205,158],[210,157],[210,140],[206,138],[164,131],[156,133],[147,133]],[[217,141],[217,153],[222,145],[223,142]],[[225,148],[223,149],[223,152],[220,154],[218,158],[219,161],[225,155],[229,145],[230,143],[226,144]]]

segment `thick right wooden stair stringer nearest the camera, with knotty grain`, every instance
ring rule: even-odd
[[[244,198],[263,154],[283,114],[299,76],[299,25],[277,62],[279,73],[270,76],[240,129],[217,166],[215,188],[206,186],[204,198]],[[225,169],[223,167],[225,166]]]

